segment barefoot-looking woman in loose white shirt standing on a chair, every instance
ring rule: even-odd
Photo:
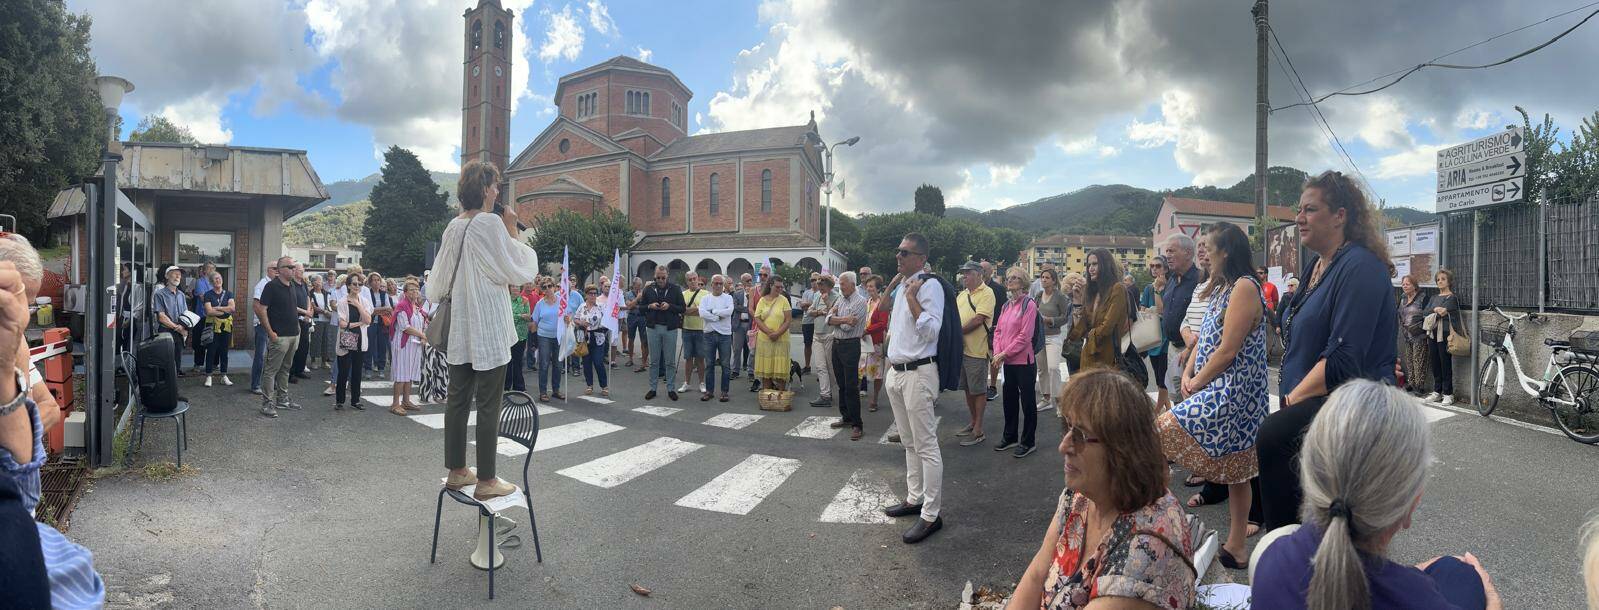
[[[449,301],[449,391],[445,407],[445,487],[477,484],[472,496],[489,500],[510,495],[516,485],[494,476],[499,456],[499,415],[505,395],[505,365],[516,328],[505,287],[532,282],[539,255],[518,237],[513,208],[488,213],[499,200],[500,173],[492,163],[472,162],[461,170],[456,192],[461,215],[440,239],[438,256],[427,282],[427,298]],[[437,322],[437,320],[435,320]],[[467,413],[477,408],[478,472],[467,469]]]

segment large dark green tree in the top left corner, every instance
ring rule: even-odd
[[[45,243],[56,192],[94,175],[106,146],[94,72],[88,14],[61,0],[0,2],[0,210],[34,243]]]

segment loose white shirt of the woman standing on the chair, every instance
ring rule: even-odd
[[[456,277],[459,261],[461,277]],[[513,240],[499,216],[456,218],[440,237],[427,282],[427,299],[449,298],[449,349],[445,362],[494,370],[510,362],[516,343],[505,287],[537,280],[539,255]]]

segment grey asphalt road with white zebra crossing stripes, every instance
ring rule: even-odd
[[[114,607],[489,605],[488,576],[467,564],[477,536],[472,509],[445,503],[438,564],[427,562],[443,476],[443,431],[427,418],[381,407],[336,413],[331,400],[312,399],[321,389],[315,383],[294,386],[304,411],[264,419],[243,383],[205,389],[190,376],[184,384],[195,405],[184,461],[200,472],[168,482],[138,474],[98,480],[72,519],[69,533],[94,551]],[[836,416],[803,405],[815,395],[814,379],[788,413],[760,411],[748,384],[734,386],[729,403],[699,402],[694,392],[672,402],[662,392],[648,405],[681,411],[646,413],[635,411],[646,407],[644,376],[619,371],[614,402],[553,405],[560,411],[542,421],[540,445],[548,448],[532,453],[529,469],[544,562],[532,560],[526,511],[507,509],[523,546],[507,551],[494,604],[950,608],[967,581],[1014,583],[1038,549],[1063,485],[1052,411],[1041,413],[1039,451],[1015,460],[991,445],[958,447],[953,432],[966,410],[945,394],[937,407],[945,528],[905,546],[899,535],[910,519],[870,522],[878,520],[870,511],[851,511],[903,493],[903,451],[878,442],[892,419],[886,399],[865,413],[867,437],[851,442],[847,432],[795,435],[817,429],[807,418]],[[993,432],[996,411],[985,418]],[[705,424],[724,413],[761,418],[742,429]],[[1393,557],[1471,551],[1506,607],[1580,607],[1575,533],[1599,506],[1589,485],[1599,448],[1433,413],[1438,464]],[[555,439],[571,442],[555,447],[563,442]],[[154,423],[141,460],[169,460],[171,442],[169,426]],[[520,484],[521,464],[521,456],[502,455],[500,476]],[[1180,482],[1178,472],[1174,490],[1188,492]],[[1225,506],[1196,512],[1225,527]],[[652,594],[641,597],[630,584]]]

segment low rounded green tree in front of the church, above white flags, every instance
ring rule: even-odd
[[[540,215],[532,221],[532,237],[528,245],[539,253],[539,263],[560,263],[563,248],[571,248],[571,269],[577,277],[588,277],[590,272],[611,274],[611,263],[616,251],[633,247],[633,224],[619,210],[604,208],[593,215],[579,215],[561,210],[555,215]],[[628,275],[622,269],[622,275]]]

